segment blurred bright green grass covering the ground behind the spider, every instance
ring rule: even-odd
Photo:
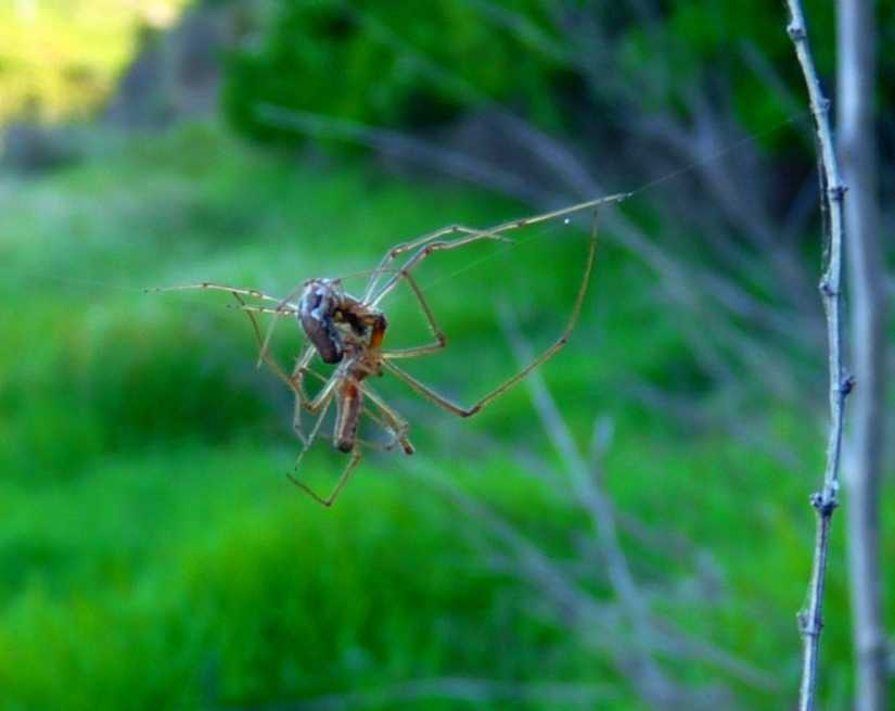
[[[608,683],[608,708],[640,708],[604,659],[545,614],[537,591],[490,564],[481,522],[408,475],[402,455],[365,460],[333,510],[301,495],[283,477],[297,452],[291,403],[254,368],[245,319],[223,295],[142,291],[216,280],[284,294],[308,276],[369,268],[443,224],[521,214],[362,164],[259,153],[208,126],[125,142],[39,182],[0,182],[0,708],[254,707],[458,675]],[[451,345],[414,372],[466,401],[498,382],[512,356],[495,302],[513,303],[529,338],[549,341],[584,246],[583,233],[548,226],[517,249],[431,265],[421,282]],[[669,661],[676,673],[728,683],[747,708],[785,708],[822,435],[772,402],[750,412],[801,457],[787,470],[720,426],[627,395],[625,383],[643,379],[709,411],[721,399],[652,289],[602,247],[580,327],[545,372],[583,446],[596,416],[613,419],[606,486],[639,521],[623,532],[638,580],[674,592],[656,610],[778,687],[695,661]],[[391,305],[389,338],[423,335],[410,303]],[[294,355],[294,325],[280,326],[277,346],[284,361]],[[457,422],[381,385],[411,417],[423,469],[555,559],[587,563],[583,584],[608,595],[601,563],[583,554],[580,512],[515,457],[554,464],[524,389]],[[323,485],[343,464],[321,443],[305,474]],[[824,694],[845,708],[835,525]]]

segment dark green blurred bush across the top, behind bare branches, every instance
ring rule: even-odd
[[[833,7],[806,5],[816,60],[832,76]],[[624,126],[631,98],[601,72],[626,77],[640,113],[680,110],[694,90],[732,101],[749,131],[801,111],[792,97],[802,97],[803,80],[775,0],[687,0],[649,20],[635,3],[536,0],[274,0],[266,8],[252,41],[228,59],[223,99],[230,123],[261,139],[295,140],[259,116],[266,104],[393,129],[432,128],[489,102],[561,132],[588,110]],[[893,10],[886,0],[878,12]],[[882,53],[881,68],[885,96],[895,61]]]

